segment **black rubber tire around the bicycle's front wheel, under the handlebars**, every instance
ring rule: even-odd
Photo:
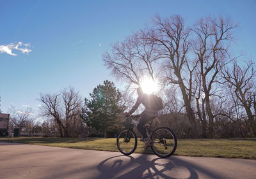
[[[133,136],[132,139],[134,139],[134,141],[132,140],[132,143],[130,143],[131,140],[128,141],[128,142],[124,141],[125,139],[123,137],[126,136],[127,132],[131,132],[131,133],[128,133],[128,134],[132,134],[132,136]],[[118,136],[116,138],[117,148],[124,155],[131,155],[136,150],[137,143],[138,143],[138,140],[137,140],[137,136],[136,136],[135,132],[130,131],[129,129],[122,129],[118,133]],[[127,149],[125,147],[123,147],[121,144],[125,144]],[[131,145],[131,147],[129,147],[129,145]]]

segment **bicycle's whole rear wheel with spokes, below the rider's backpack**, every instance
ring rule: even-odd
[[[158,157],[170,157],[177,148],[177,138],[168,127],[157,128],[151,136],[152,151]]]

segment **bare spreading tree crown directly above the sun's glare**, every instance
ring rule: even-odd
[[[154,43],[148,43],[143,31],[111,45],[111,54],[102,55],[105,66],[116,78],[140,85],[144,78],[156,80],[156,61],[161,57]]]

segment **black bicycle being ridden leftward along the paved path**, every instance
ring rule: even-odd
[[[124,155],[131,155],[137,148],[138,139],[136,133],[133,131],[133,127],[138,124],[138,121],[136,121],[138,117],[138,115],[127,117],[129,123],[128,127],[122,129],[116,138],[118,150]],[[149,147],[151,147],[154,154],[158,157],[170,157],[177,148],[175,133],[168,127],[157,127],[157,129],[154,129],[152,127],[154,121],[159,122],[159,119],[157,117],[152,118],[152,120],[144,126],[148,138],[150,138]]]

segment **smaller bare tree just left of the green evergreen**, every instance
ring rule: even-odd
[[[41,94],[42,116],[51,117],[60,131],[61,137],[79,134],[83,124],[79,113],[83,99],[74,88],[64,89],[60,94]]]

